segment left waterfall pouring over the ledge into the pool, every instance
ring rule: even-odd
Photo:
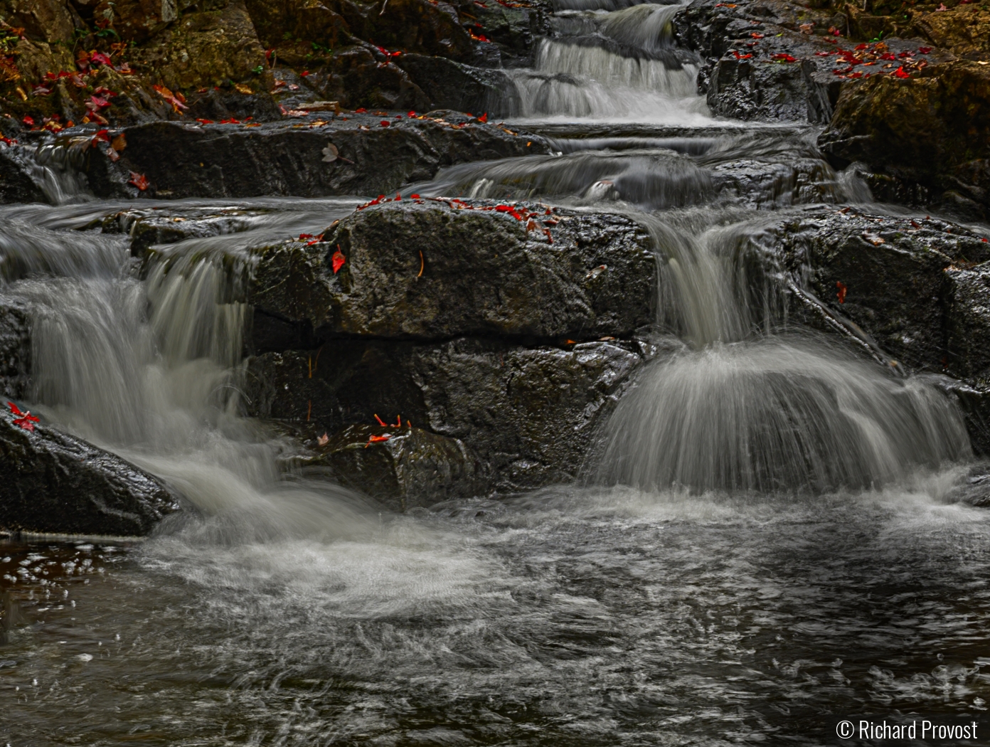
[[[0,292],[32,309],[38,410],[176,487],[213,517],[193,527],[208,541],[361,526],[347,490],[283,480],[287,442],[239,414],[245,247],[322,230],[350,203],[293,211],[285,201],[291,221],[262,216],[253,232],[161,247],[141,271],[124,236],[33,227],[45,208],[14,209],[19,219],[0,229],[0,267],[11,268],[4,280],[19,280]],[[48,213],[50,228],[85,220],[71,208],[47,210],[61,218]]]

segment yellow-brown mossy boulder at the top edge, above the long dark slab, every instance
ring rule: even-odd
[[[162,7],[169,5],[162,2]],[[174,5],[172,6],[174,8]],[[220,10],[186,13],[132,57],[153,69],[171,89],[219,86],[246,81],[257,92],[255,70],[266,67],[244,0],[230,0]]]

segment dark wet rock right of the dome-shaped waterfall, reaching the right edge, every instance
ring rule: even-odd
[[[985,370],[979,309],[990,291],[980,267],[957,269],[990,260],[982,237],[940,220],[844,208],[789,219],[758,242],[810,293],[791,296],[801,321],[875,344],[912,369],[970,381]],[[815,303],[801,306],[809,298]],[[815,318],[822,310],[828,319]],[[955,332],[946,338],[946,330]]]

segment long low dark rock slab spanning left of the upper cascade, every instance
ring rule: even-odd
[[[150,187],[142,193],[147,196],[318,197],[394,193],[402,184],[429,179],[451,163],[546,151],[541,138],[510,135],[481,123],[458,128],[404,115],[402,120],[385,120],[394,123],[387,128],[375,115],[314,127],[304,126],[305,121],[255,128],[170,122],[131,127],[124,130],[128,145],[120,160],[90,149],[82,169],[101,197],[138,196],[127,183],[132,171],[147,175]],[[343,159],[324,160],[330,144]]]

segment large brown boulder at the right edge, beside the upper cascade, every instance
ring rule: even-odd
[[[957,60],[843,90],[819,145],[839,167],[866,164],[880,199],[990,215],[990,66]]]

